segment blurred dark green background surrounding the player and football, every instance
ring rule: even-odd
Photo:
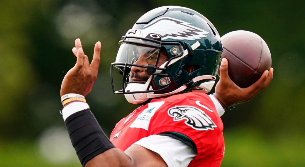
[[[99,77],[87,96],[102,128],[137,105],[114,95],[110,63],[118,41],[151,9],[179,5],[205,15],[220,35],[248,30],[272,55],[274,79],[252,101],[222,116],[221,166],[305,166],[305,1],[0,1],[0,166],[81,166],[59,114],[60,85],[80,38],[92,59],[102,42]]]

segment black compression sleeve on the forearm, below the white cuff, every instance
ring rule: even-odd
[[[70,115],[65,124],[83,166],[96,155],[114,147],[89,109]]]

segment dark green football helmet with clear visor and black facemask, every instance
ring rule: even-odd
[[[200,13],[179,6],[163,6],[145,13],[119,45],[110,69],[112,88],[114,94],[124,94],[133,104],[188,92],[194,87],[209,92],[223,50],[213,24]],[[140,60],[145,63],[138,63]],[[113,84],[114,69],[123,75],[119,90]],[[147,77],[133,80],[140,71],[145,71]]]

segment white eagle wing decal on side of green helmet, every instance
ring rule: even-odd
[[[164,27],[164,28],[162,28]],[[169,17],[161,17],[144,26],[143,37],[156,33],[162,39],[196,40],[206,37],[209,32],[191,26],[191,23]]]

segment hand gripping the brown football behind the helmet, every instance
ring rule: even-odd
[[[247,88],[237,86],[229,77],[228,60],[223,58],[220,66],[220,80],[216,84],[213,95],[223,107],[248,102],[260,91],[266,88],[273,78],[273,68],[266,70],[259,80]]]

